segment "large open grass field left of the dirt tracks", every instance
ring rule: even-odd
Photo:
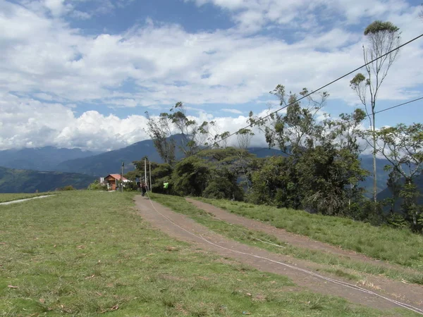
[[[152,229],[134,194],[0,209],[0,316],[415,316],[306,292]]]

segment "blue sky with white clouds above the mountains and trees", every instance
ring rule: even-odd
[[[315,90],[363,64],[364,28],[423,33],[421,0],[0,0],[0,150],[109,151],[148,139],[182,101],[221,132],[277,106],[276,85]],[[423,38],[401,49],[377,109],[423,96]],[[331,116],[361,107],[353,75],[326,88]],[[423,101],[376,125],[421,122]],[[255,135],[252,145],[265,145]]]

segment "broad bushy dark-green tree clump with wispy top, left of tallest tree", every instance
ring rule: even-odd
[[[367,175],[358,160],[357,142],[364,111],[342,113],[336,120],[324,114],[319,121],[317,113],[328,94],[322,93],[319,101],[308,98],[304,107],[295,94],[286,101],[282,85],[271,94],[286,106],[286,114],[255,118],[250,113],[249,120],[265,133],[269,147],[277,145],[290,159],[269,159],[250,173],[252,201],[330,215],[350,214],[352,202],[362,195],[358,182]],[[301,94],[307,95],[307,89]]]

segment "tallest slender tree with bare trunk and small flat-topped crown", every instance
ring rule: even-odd
[[[384,82],[388,71],[394,61],[398,57],[400,45],[400,32],[396,25],[390,22],[382,22],[379,20],[369,24],[364,30],[367,37],[368,46],[363,45],[364,63],[369,63],[375,58],[379,58],[373,63],[366,66],[367,77],[362,73],[355,75],[350,81],[350,87],[353,88],[364,105],[367,115],[369,115],[370,126],[372,130],[372,142],[369,144],[373,148],[373,199],[376,203],[377,194],[377,175],[376,175],[376,101],[379,95],[379,89]],[[384,54],[387,54],[384,56]],[[381,57],[384,56],[384,57]],[[380,58],[381,57],[381,58]],[[367,92],[370,94],[370,100],[367,100]]]

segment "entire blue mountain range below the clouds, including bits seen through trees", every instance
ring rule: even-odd
[[[278,149],[269,149],[266,147],[250,147],[248,151],[260,158],[282,155],[282,152]],[[51,177],[54,178],[53,175],[56,175],[58,182],[61,182],[63,179],[75,180],[75,184],[80,185],[82,184],[80,183],[82,176],[77,177],[75,174],[84,174],[87,177],[86,180],[93,180],[94,178],[104,177],[111,173],[121,173],[122,162],[125,163],[124,173],[126,173],[135,168],[132,163],[133,161],[139,161],[144,156],[147,156],[150,161],[162,162],[153,141],[147,139],[122,149],[104,153],[82,151],[80,149],[59,149],[55,147],[5,150],[0,151],[0,166],[20,170],[61,172],[59,174],[52,173]],[[177,156],[180,156],[180,154],[177,154]],[[360,159],[364,169],[372,170],[372,156],[361,156]],[[384,171],[384,166],[387,163],[388,161],[384,159],[378,159],[378,192],[386,188],[388,173]],[[66,176],[66,173],[72,173],[72,175]],[[30,174],[30,171],[28,171],[28,175],[35,176],[35,174]],[[73,183],[66,185],[73,185]],[[362,182],[362,187],[367,189],[367,196],[371,197],[373,187],[371,176]],[[0,188],[0,192],[4,192],[4,190]]]

